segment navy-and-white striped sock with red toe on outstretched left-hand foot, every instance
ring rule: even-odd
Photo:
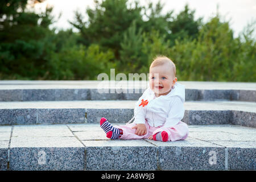
[[[116,127],[113,127],[106,118],[101,118],[101,128],[105,131],[106,137],[110,139],[118,139],[120,131]]]

